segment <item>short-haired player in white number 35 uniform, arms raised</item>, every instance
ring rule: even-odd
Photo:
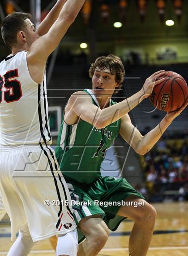
[[[12,55],[0,63],[0,194],[12,239],[19,230],[8,256],[26,256],[55,234],[57,256],[77,255],[70,196],[50,147],[45,66],[84,1],[58,0],[37,31],[28,13],[1,24]]]

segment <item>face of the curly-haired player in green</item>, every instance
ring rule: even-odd
[[[115,87],[119,86],[115,81],[115,74],[112,75],[108,68],[100,70],[98,67],[96,67],[92,82],[93,92],[97,95],[112,95]]]

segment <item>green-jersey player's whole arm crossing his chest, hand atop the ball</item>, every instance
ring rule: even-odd
[[[141,103],[143,99],[147,98],[152,92],[153,87],[163,81],[163,78],[156,81],[156,77],[163,73],[163,71],[154,73],[146,79],[142,89],[136,94],[133,94],[128,99],[124,99],[123,101],[104,109],[100,109],[92,104],[92,100],[87,93],[81,91],[76,92],[71,95],[68,101],[64,119],[67,122],[66,118],[70,115],[73,117],[75,122],[76,119],[80,117],[82,120],[92,124],[98,129],[108,126],[126,115],[130,110]],[[71,124],[73,120],[68,117],[69,124]]]

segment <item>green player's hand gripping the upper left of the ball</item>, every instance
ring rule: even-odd
[[[145,83],[142,87],[145,95],[149,96],[152,93],[154,86],[160,84],[165,80],[165,78],[160,78],[160,76],[164,74],[164,70],[159,70],[158,72],[155,72],[145,80]]]

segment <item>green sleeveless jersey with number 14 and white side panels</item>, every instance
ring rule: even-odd
[[[92,90],[84,91],[90,94],[93,104],[99,106]],[[111,99],[110,105],[113,104],[115,102]],[[120,123],[121,119],[105,128],[97,129],[80,119],[75,125],[67,125],[63,114],[56,158],[65,179],[90,184],[101,176],[100,166],[107,149],[119,134]]]

